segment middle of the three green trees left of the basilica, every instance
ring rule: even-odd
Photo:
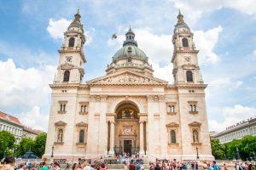
[[[22,138],[17,145],[15,156],[23,156],[27,150],[33,150],[34,140],[31,138]]]

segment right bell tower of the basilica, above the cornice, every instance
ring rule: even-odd
[[[174,49],[172,75],[175,84],[203,83],[197,57],[199,50],[195,48],[193,36],[194,34],[183,20],[183,14],[179,11],[172,35]]]

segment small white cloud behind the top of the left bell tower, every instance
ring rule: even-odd
[[[46,30],[49,32],[49,35],[55,40],[62,40],[64,37],[64,32],[67,31],[67,27],[70,25],[71,20],[60,19],[54,20],[49,19],[49,25]],[[89,28],[84,30],[84,36],[86,38],[86,45],[89,45],[92,42],[92,35],[95,32],[95,28]]]

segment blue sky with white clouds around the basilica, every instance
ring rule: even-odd
[[[177,9],[195,33],[210,130],[256,116],[256,3],[226,1],[0,1],[0,110],[47,129],[62,32],[80,9],[86,31],[84,81],[104,75],[131,25],[155,77],[172,83]],[[117,32],[118,39],[111,40]]]

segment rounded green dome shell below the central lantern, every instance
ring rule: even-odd
[[[143,50],[140,48],[137,48],[134,45],[125,45],[123,48],[120,48],[113,55],[113,59],[120,59],[125,57],[134,57],[142,60],[148,59],[147,55],[143,52]]]

